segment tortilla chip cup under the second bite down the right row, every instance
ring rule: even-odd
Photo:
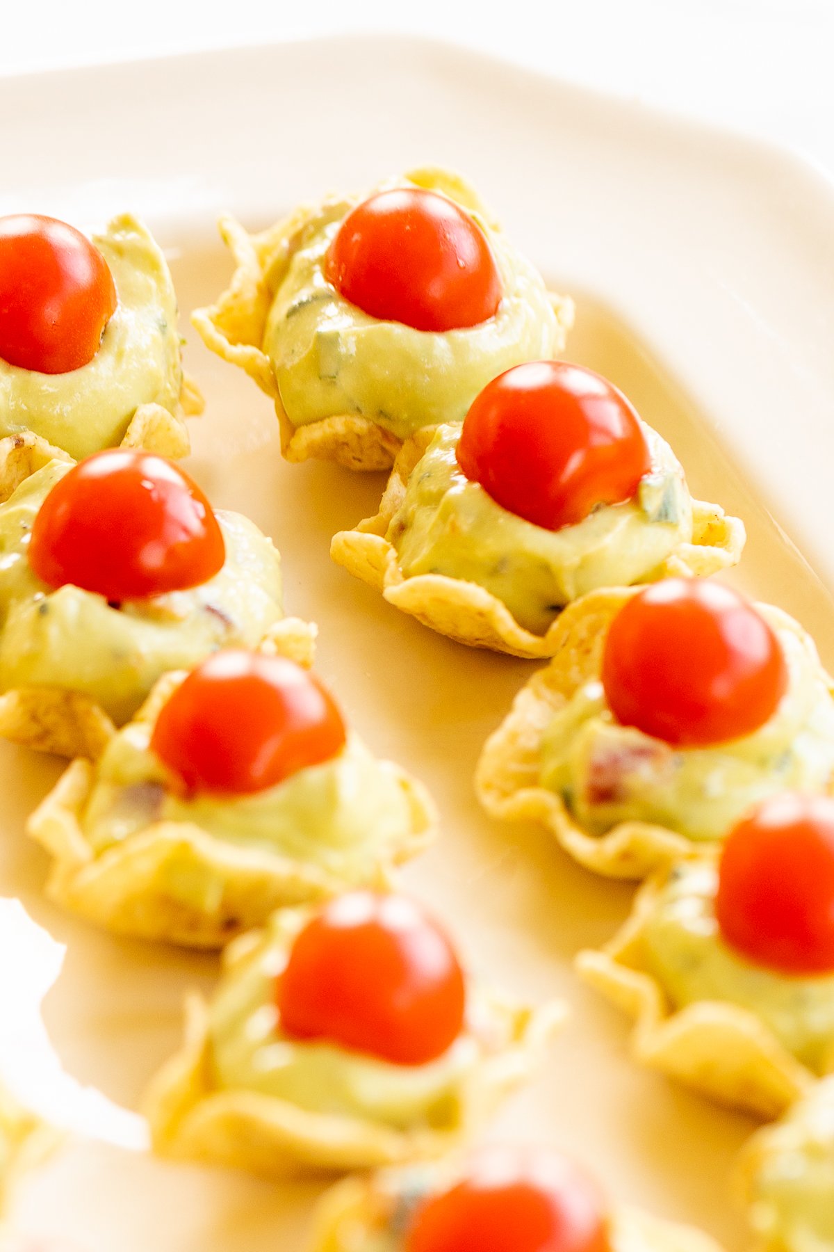
[[[405,441],[379,512],[359,522],[355,530],[334,535],[330,556],[349,573],[381,591],[395,608],[416,617],[439,635],[469,647],[485,647],[528,660],[554,656],[561,646],[559,622],[565,610],[545,635],[534,635],[515,621],[503,601],[476,582],[441,573],[408,578],[403,575],[396,548],[385,536],[403,505],[411,472],[431,443],[435,429],[425,427]],[[738,563],[744,547],[744,525],[736,517],[728,517],[718,505],[698,500],[693,501],[693,542],[681,543],[648,581],[685,575],[700,577]]]

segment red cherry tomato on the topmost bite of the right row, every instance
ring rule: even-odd
[[[371,317],[416,331],[479,326],[501,300],[484,232],[454,200],[419,187],[356,205],[330,244],[325,278]]]

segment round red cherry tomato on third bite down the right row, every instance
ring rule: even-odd
[[[703,578],[640,591],[611,622],[603,686],[624,726],[676,747],[750,735],[788,686],[779,640],[754,605]]]

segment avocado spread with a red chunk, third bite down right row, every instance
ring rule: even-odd
[[[788,662],[773,717],[715,747],[673,747],[614,720],[599,681],[561,707],[541,745],[541,785],[589,834],[649,821],[689,839],[723,839],[753,804],[784,790],[821,791],[834,769],[834,700],[809,636],[761,607]]]

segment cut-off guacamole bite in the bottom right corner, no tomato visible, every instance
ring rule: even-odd
[[[761,1252],[834,1248],[834,1078],[815,1083],[741,1156],[741,1187]]]

